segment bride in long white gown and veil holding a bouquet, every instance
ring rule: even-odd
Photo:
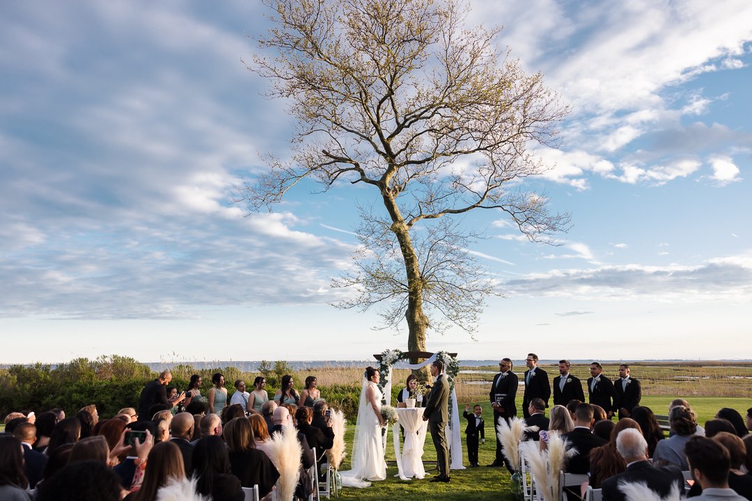
[[[381,399],[384,395],[378,389],[378,380],[378,370],[366,367],[360,391],[353,454],[350,456],[352,469],[341,472],[342,484],[347,487],[368,487],[371,482],[364,479],[376,481],[387,478],[387,461],[384,460],[384,445],[381,442],[381,429],[384,427]]]

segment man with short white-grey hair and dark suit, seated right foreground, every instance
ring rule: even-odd
[[[661,499],[667,499],[666,496],[671,493],[672,489],[678,495],[684,496],[684,475],[681,470],[676,466],[657,468],[650,464],[650,460],[647,459],[647,442],[639,430],[634,428],[622,430],[616,437],[616,448],[627,466],[623,473],[603,481],[604,501],[627,501],[628,498],[623,491],[625,484],[647,485]]]

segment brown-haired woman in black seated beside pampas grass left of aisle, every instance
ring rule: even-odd
[[[250,421],[235,418],[224,430],[232,474],[240,479],[243,487],[258,485],[259,497],[266,496],[280,474],[266,453],[256,448]]]

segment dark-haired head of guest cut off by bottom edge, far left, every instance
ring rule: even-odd
[[[122,494],[120,479],[106,464],[79,461],[41,482],[35,501],[120,501]]]

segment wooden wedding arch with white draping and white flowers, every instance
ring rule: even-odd
[[[399,349],[387,349],[384,352],[374,355],[378,361],[379,367],[379,389],[384,394],[384,405],[391,405],[392,400],[392,366],[397,362],[408,362],[411,358],[425,358],[426,361],[418,364],[405,364],[405,367],[411,370],[418,370],[432,364],[434,361],[440,361],[444,364],[444,374],[449,381],[449,430],[447,430],[447,442],[450,454],[450,469],[465,469],[462,466],[462,439],[460,437],[459,406],[457,405],[457,395],[454,391],[454,380],[459,374],[459,362],[456,353],[449,352],[402,352]],[[399,436],[395,436],[399,439]],[[384,445],[386,446],[386,436],[384,436]],[[399,462],[399,457],[398,457]],[[398,464],[399,467],[399,464]]]

